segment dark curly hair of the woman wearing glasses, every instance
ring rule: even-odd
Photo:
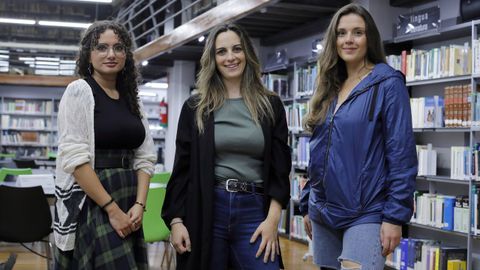
[[[135,66],[135,60],[132,53],[132,39],[127,29],[115,21],[97,21],[94,22],[87,30],[85,30],[82,40],[80,41],[80,52],[77,59],[77,73],[86,78],[91,76],[89,70],[90,54],[93,48],[98,44],[100,35],[107,29],[113,30],[118,38],[125,46],[126,59],[123,70],[117,76],[117,90],[121,95],[126,97],[130,111],[141,117],[140,108],[138,105],[138,80],[140,73]]]

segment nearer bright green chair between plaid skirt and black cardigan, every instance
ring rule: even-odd
[[[174,262],[175,250],[170,246],[170,230],[160,216],[165,192],[164,187],[154,187],[148,190],[147,211],[143,215],[143,235],[146,243],[163,242],[164,253],[160,266],[163,266],[165,261],[167,269],[170,269],[170,264],[172,261]]]

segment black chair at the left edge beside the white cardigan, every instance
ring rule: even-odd
[[[33,253],[47,259],[50,268],[52,215],[41,186],[11,187],[0,185],[0,241],[21,243]],[[47,255],[30,249],[23,243],[42,241]]]

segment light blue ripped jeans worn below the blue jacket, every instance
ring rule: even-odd
[[[362,270],[383,270],[380,226],[368,223],[335,230],[312,221],[313,262],[320,267],[350,269],[341,268],[341,261],[346,260],[360,264]]]

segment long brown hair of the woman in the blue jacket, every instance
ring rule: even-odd
[[[347,79],[347,69],[337,53],[337,26],[340,18],[356,14],[365,22],[367,35],[367,55],[365,61],[373,64],[385,63],[380,33],[368,11],[359,4],[348,4],[340,8],[330,21],[324,39],[324,50],[319,55],[317,66],[316,89],[310,100],[310,112],[305,116],[304,127],[313,132],[315,125],[325,121],[332,100],[337,95],[342,83]]]

